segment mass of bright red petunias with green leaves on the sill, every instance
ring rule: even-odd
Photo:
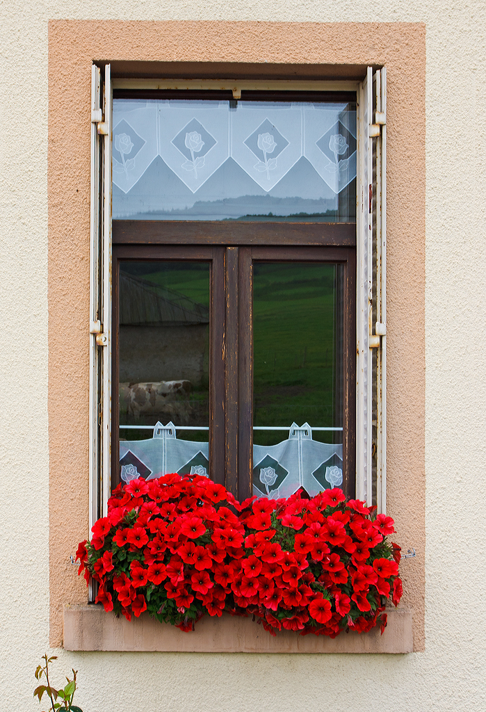
[[[339,489],[239,503],[208,478],[165,475],[118,486],[78,547],[96,602],[130,620],[147,610],[181,630],[205,613],[253,614],[266,630],[337,636],[386,626],[400,547],[391,517]]]

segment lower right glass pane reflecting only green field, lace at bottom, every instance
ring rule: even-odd
[[[339,264],[253,267],[253,493],[342,486]]]

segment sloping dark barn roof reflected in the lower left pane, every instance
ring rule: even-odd
[[[120,271],[120,325],[184,326],[208,323],[209,310],[203,304]]]

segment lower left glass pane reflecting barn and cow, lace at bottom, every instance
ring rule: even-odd
[[[167,472],[208,474],[209,284],[209,263],[120,263],[125,481]]]

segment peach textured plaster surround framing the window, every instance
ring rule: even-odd
[[[188,639],[184,638],[184,643],[178,642],[173,630],[163,625],[154,627],[148,618],[135,622],[135,636],[132,629],[120,628],[114,617],[100,617],[98,607],[85,606],[85,582],[78,579],[75,567],[68,563],[78,541],[88,536],[93,61],[100,65],[110,62],[115,77],[163,78],[360,80],[366,66],[386,66],[387,511],[396,521],[397,543],[403,548],[413,546],[417,556],[401,566],[405,592],[402,612],[391,612],[383,637],[369,634],[366,642],[357,644],[346,643],[352,636],[342,636],[343,641],[317,638],[307,651],[357,652],[357,648],[368,652],[422,651],[425,647],[426,78],[422,23],[49,22],[51,645],[60,646],[64,641],[70,649],[174,650],[183,645],[183,649],[200,651],[272,649],[275,652],[305,651],[310,645],[302,643],[298,636],[282,637],[280,643],[279,639],[269,642],[263,639],[261,628],[250,620],[233,630],[229,617],[218,622],[201,622],[201,632],[186,634]],[[65,604],[70,605],[64,609]],[[102,634],[96,638],[94,632],[99,625]],[[215,626],[220,627],[218,632]],[[191,639],[191,635],[196,638]],[[137,644],[130,642],[134,636]],[[228,644],[228,636],[233,644]],[[214,646],[215,639],[219,648]]]

